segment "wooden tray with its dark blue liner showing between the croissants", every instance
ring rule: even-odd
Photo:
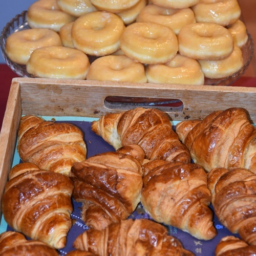
[[[0,201],[8,172],[20,161],[16,151],[16,135],[22,115],[32,114],[41,116],[45,120],[74,123],[84,132],[88,157],[105,151],[114,151],[112,146],[91,131],[91,122],[106,113],[122,112],[136,108],[138,105],[143,106],[143,102],[144,107],[148,108],[152,107],[148,102],[160,101],[160,104],[155,104],[154,108],[162,109],[169,114],[174,129],[181,120],[202,119],[215,110],[230,107],[245,108],[250,114],[251,122],[256,123],[256,88],[149,85],[150,90],[142,83],[14,78],[0,134]],[[162,104],[162,101],[175,103]],[[68,234],[67,246],[59,251],[61,255],[74,249],[73,241],[79,233],[87,229],[80,218],[80,203],[73,201],[73,204],[74,211],[71,217],[74,225]],[[129,218],[150,218],[150,216],[139,204]],[[195,255],[214,256],[215,247],[220,239],[231,235],[216,216],[214,223],[218,235],[209,241],[193,238],[175,227],[166,226],[166,228],[169,234],[177,237],[183,246]],[[2,217],[0,232],[5,230],[11,229]]]

